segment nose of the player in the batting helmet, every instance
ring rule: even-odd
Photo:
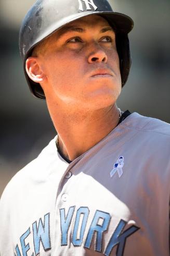
[[[104,50],[98,46],[88,56],[88,63],[107,63],[108,57]]]

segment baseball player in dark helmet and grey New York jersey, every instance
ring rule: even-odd
[[[132,29],[107,0],[25,16],[25,77],[57,136],[4,190],[1,256],[169,255],[170,126],[116,106]]]

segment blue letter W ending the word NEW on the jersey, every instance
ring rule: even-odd
[[[44,216],[44,224],[42,219],[38,223],[34,222],[33,225],[33,238],[34,238],[34,250],[35,255],[40,253],[40,243],[42,242],[43,248],[45,251],[51,249],[50,245],[50,214]]]

